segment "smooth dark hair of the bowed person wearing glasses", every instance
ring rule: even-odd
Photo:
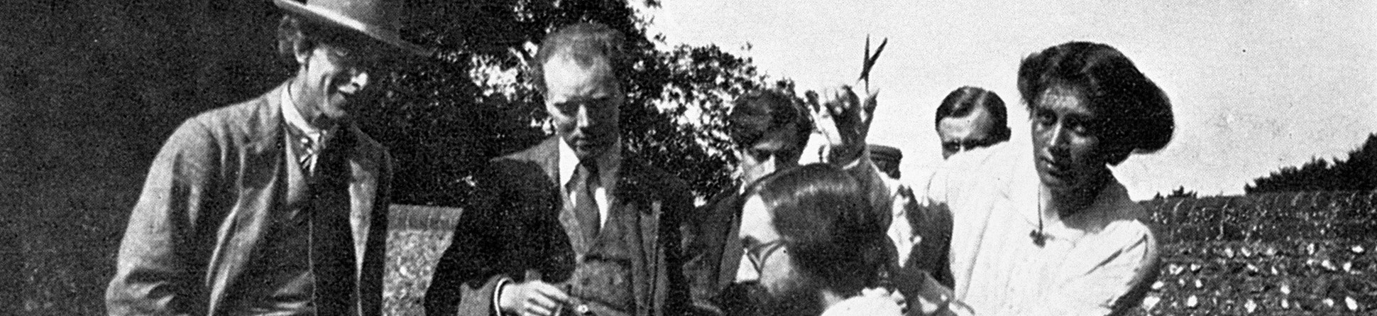
[[[782,170],[748,196],[764,201],[793,265],[811,284],[843,294],[876,284],[888,241],[866,192],[845,171],[822,163]]]

